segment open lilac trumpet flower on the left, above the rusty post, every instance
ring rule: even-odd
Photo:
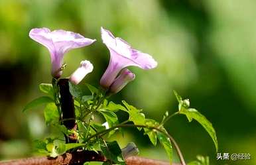
[[[29,36],[48,48],[54,78],[60,78],[62,75],[62,60],[66,52],[74,48],[88,46],[96,41],[75,32],[66,30],[50,31],[48,28],[32,28]]]

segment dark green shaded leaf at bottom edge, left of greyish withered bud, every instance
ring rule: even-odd
[[[117,144],[117,141],[107,142],[107,146],[101,144],[101,151],[113,164],[125,165],[125,160],[123,159],[121,148]]]

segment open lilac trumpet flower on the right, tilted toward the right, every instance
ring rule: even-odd
[[[121,38],[115,38],[109,30],[101,27],[101,38],[110,52],[109,65],[101,77],[100,85],[108,89],[119,72],[127,66],[137,66],[143,70],[157,67],[157,62],[151,55],[131,48],[131,46]]]

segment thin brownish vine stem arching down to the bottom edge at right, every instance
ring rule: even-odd
[[[106,133],[108,133],[109,131],[112,131],[113,129],[122,128],[122,127],[140,127],[140,128],[147,128],[147,129],[152,129],[152,130],[155,129],[155,130],[159,131],[160,133],[166,135],[170,139],[172,144],[174,144],[174,147],[177,151],[178,157],[180,158],[180,163],[182,165],[186,165],[185,160],[180,151],[180,148],[179,148],[178,144],[176,143],[176,141],[174,140],[174,138],[171,135],[169,135],[168,133],[166,133],[166,131],[163,131],[162,129],[160,129],[159,127],[151,127],[151,126],[147,126],[147,125],[128,125],[128,124],[115,125],[109,129],[106,129],[104,131],[101,131],[101,132],[98,132],[98,133],[92,135],[91,137],[87,138],[87,140],[85,142],[88,142],[91,138],[103,136]]]

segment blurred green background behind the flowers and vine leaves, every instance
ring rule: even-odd
[[[160,120],[165,111],[177,111],[175,89],[212,122],[220,152],[251,154],[251,160],[216,160],[206,131],[174,117],[168,131],[186,162],[202,154],[212,165],[256,164],[255,7],[253,0],[0,0],[0,160],[31,156],[32,141],[48,135],[42,108],[21,112],[41,94],[38,84],[51,81],[48,50],[29,38],[29,30],[62,28],[96,38],[66,54],[64,76],[87,59],[94,72],[84,82],[98,85],[109,60],[102,26],[159,62],[154,70],[131,67],[136,80],[113,97],[117,103],[126,99]],[[113,138],[122,146],[136,142],[141,156],[168,159],[142,133],[127,133]]]

